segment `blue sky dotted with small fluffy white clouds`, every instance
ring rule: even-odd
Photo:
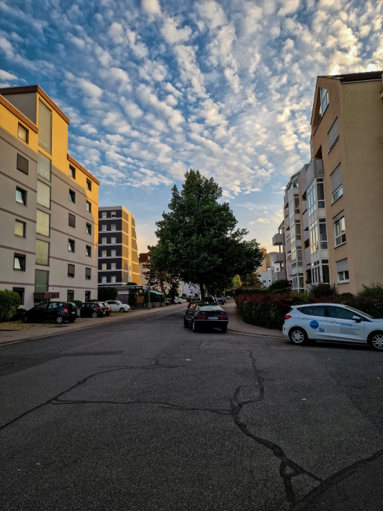
[[[68,115],[139,252],[189,168],[272,250],[317,75],[383,69],[382,21],[381,0],[0,0],[0,86],[39,84]]]

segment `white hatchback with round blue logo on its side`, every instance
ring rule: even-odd
[[[295,305],[285,316],[283,334],[292,344],[344,341],[371,344],[383,351],[383,319],[340,304]]]

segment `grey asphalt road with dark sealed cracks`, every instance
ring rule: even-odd
[[[180,310],[0,347],[0,509],[383,510],[383,354]]]

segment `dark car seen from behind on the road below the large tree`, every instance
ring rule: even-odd
[[[209,326],[221,328],[221,332],[225,333],[229,317],[219,305],[202,303],[191,304],[183,321],[185,328],[192,326],[193,332],[198,332],[203,326]]]

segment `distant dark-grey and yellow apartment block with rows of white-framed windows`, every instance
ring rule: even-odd
[[[134,215],[124,206],[100,206],[98,212],[98,283],[141,285]]]

